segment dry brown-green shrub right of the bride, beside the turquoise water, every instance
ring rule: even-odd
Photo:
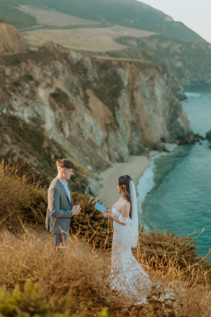
[[[133,251],[140,264],[158,274],[211,286],[210,250],[204,257],[197,253],[196,239],[176,236],[168,231],[140,231],[138,248]]]

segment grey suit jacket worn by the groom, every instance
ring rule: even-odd
[[[69,200],[65,187],[56,177],[48,189],[46,229],[53,233],[69,232],[72,217],[72,198]]]

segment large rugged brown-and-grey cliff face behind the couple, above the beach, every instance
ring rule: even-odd
[[[66,156],[81,175],[74,188],[96,194],[93,172],[161,141],[193,138],[182,106],[152,62],[90,59],[46,43],[33,54],[1,57],[0,80],[0,155],[27,157],[46,182],[55,160]]]

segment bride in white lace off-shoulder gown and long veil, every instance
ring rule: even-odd
[[[108,280],[111,288],[123,292],[124,297],[146,303],[152,282],[131,251],[131,247],[137,247],[139,236],[136,191],[132,178],[120,176],[117,190],[120,193],[119,200],[112,210],[107,209],[102,213],[104,217],[114,220],[112,267]]]

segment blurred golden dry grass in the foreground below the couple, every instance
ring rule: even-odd
[[[77,317],[206,317],[211,314],[207,287],[189,287],[179,280],[178,275],[177,279],[171,274],[162,276],[147,265],[145,270],[155,284],[153,293],[146,305],[134,306],[134,301],[120,297],[121,294],[111,291],[107,283],[110,252],[90,247],[78,236],[71,236],[65,254],[55,253],[52,236],[47,231],[23,225],[23,232],[15,237],[4,231],[0,236],[1,286],[5,285],[10,293],[14,289],[17,293],[18,287],[25,294],[24,302],[19,299],[16,303],[23,310],[20,316],[35,317],[35,311],[36,317],[59,313]],[[34,287],[29,281],[36,283]],[[28,295],[26,287],[24,290],[26,283],[27,288],[33,290]],[[5,290],[3,294],[6,294]],[[27,301],[27,296],[30,301]],[[2,307],[5,311],[6,304],[4,302],[3,306],[2,301],[0,296],[0,313]],[[11,304],[11,300],[9,302]],[[30,305],[33,314],[25,315]]]

